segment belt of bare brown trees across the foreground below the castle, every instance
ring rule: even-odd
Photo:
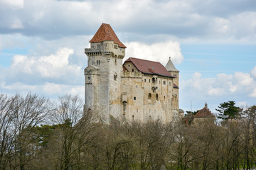
[[[114,118],[106,125],[82,112],[78,96],[53,104],[34,94],[1,94],[0,169],[253,169],[256,106],[240,112],[220,126]]]

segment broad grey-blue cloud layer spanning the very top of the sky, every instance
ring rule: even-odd
[[[164,40],[203,39],[204,42],[256,40],[253,0],[4,0],[0,5],[2,8],[23,8],[0,11],[0,33],[3,34],[21,33],[52,40],[69,35],[92,35],[101,23],[110,23],[125,41],[138,38],[142,41],[144,37],[151,43],[162,41],[155,40],[156,35],[161,35]]]

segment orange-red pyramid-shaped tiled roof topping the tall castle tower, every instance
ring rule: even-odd
[[[89,42],[103,42],[104,40],[113,40],[115,44],[119,47],[125,47],[125,45],[117,38],[114,30],[111,28],[110,24],[102,23],[100,28],[97,30],[92,40]]]

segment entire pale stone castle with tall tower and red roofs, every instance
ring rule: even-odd
[[[178,117],[178,74],[171,57],[159,62],[130,57],[123,63],[125,45],[109,24],[102,23],[85,48],[85,111],[105,123]]]

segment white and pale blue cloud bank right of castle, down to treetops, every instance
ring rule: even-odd
[[[191,79],[180,81],[179,87],[180,107],[185,111],[190,111],[188,106],[191,105],[193,111],[201,109],[198,106],[203,108],[205,102],[213,112],[225,101],[235,101],[238,106],[255,105],[256,80],[244,72],[222,73],[214,78],[205,78],[195,72]]]

